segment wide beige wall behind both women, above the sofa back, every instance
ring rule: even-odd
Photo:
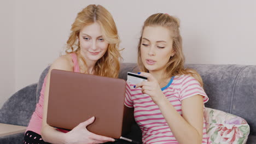
[[[125,48],[122,52],[124,62],[136,62],[136,46],[146,17],[168,13],[181,20],[187,63],[256,65],[256,1],[253,0],[14,2],[1,2],[9,4],[7,7],[1,4],[1,8],[4,7],[1,11],[9,11],[8,16],[7,13],[1,16],[7,17],[11,25],[3,28],[3,23],[0,24],[6,34],[13,31],[13,25],[15,30],[4,41],[2,49],[9,46],[11,49],[6,50],[7,53],[16,53],[15,58],[3,57],[12,59],[8,66],[10,73],[3,75],[15,77],[16,81],[7,86],[0,82],[13,93],[38,81],[41,71],[63,51],[78,11],[93,3],[102,4],[112,13],[121,38],[120,47]],[[10,45],[7,41],[14,43]],[[0,105],[4,100],[1,96]]]

